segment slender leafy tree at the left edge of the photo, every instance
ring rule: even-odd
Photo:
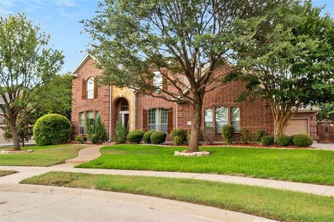
[[[4,101],[0,109],[12,133],[14,150],[20,148],[17,126],[40,106],[40,92],[63,65],[61,51],[48,44],[49,35],[25,15],[0,17],[0,96]]]

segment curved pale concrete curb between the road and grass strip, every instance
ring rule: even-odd
[[[168,200],[151,196],[142,196],[137,194],[124,194],[113,191],[99,191],[95,189],[78,189],[68,187],[53,187],[43,185],[22,185],[22,184],[0,184],[0,191],[24,191],[29,193],[41,194],[68,194],[73,196],[88,196],[92,198],[104,198],[109,200],[118,200],[126,203],[142,205],[145,207],[154,207],[158,210],[175,212],[198,216],[212,221],[225,222],[278,222],[271,219],[265,219],[260,216],[233,212],[230,210],[221,210],[216,207],[207,207],[186,203],[177,200]]]

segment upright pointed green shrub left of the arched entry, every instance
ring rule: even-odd
[[[102,144],[106,141],[106,127],[102,123],[101,118],[97,117],[93,121],[93,125],[90,126],[90,123],[87,119],[86,121],[86,134],[88,139],[92,144]]]

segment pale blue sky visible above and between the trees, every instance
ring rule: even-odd
[[[82,19],[94,17],[98,0],[0,0],[0,15],[24,12],[42,31],[51,35],[54,49],[63,51],[65,64],[62,73],[72,71],[86,55],[90,42],[84,33]],[[324,12],[334,17],[334,0],[313,0],[315,6],[324,6]]]

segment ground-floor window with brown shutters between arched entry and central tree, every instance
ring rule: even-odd
[[[148,110],[148,130],[168,130],[167,110],[162,108]]]

